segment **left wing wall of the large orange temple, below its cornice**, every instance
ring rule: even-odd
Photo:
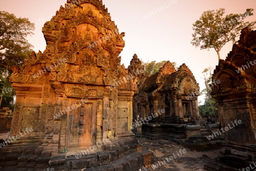
[[[10,136],[19,135],[20,132],[24,132],[23,129],[32,128],[29,136],[23,136],[20,138],[32,140],[30,137],[35,137],[40,131],[39,123],[42,126],[45,122],[39,122],[39,110],[40,101],[42,101],[42,85],[31,85],[31,84],[16,84],[12,86],[16,90],[16,105],[14,108],[13,121],[11,125]],[[47,90],[48,91],[48,90]]]

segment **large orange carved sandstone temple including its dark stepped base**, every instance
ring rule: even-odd
[[[140,152],[131,132],[140,68],[121,66],[125,33],[119,34],[102,1],[68,1],[43,34],[46,50],[32,53],[10,77],[16,90],[10,137],[32,131],[0,150],[0,166],[83,169]],[[102,141],[97,153],[75,160],[77,152]],[[60,155],[67,149],[67,156]],[[129,161],[130,169],[150,164],[151,157]]]

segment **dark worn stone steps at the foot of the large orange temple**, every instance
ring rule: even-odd
[[[53,168],[55,171],[69,170],[138,170],[139,167],[150,165],[153,153],[146,148],[137,145],[137,149],[127,147],[113,151],[97,151],[88,155],[77,156],[69,153],[58,153],[54,157],[42,157],[42,153],[37,151],[32,154],[30,145],[20,145],[6,147],[0,151],[0,170],[3,171],[44,171]],[[40,147],[40,145],[38,145]],[[33,146],[33,149],[38,149]],[[77,157],[78,158],[77,158]]]

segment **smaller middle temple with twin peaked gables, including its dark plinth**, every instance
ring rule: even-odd
[[[203,136],[210,132],[201,129],[199,84],[188,66],[183,64],[176,70],[168,61],[139,85],[133,98],[134,120],[141,119],[133,123],[136,134],[148,139],[204,143]]]

